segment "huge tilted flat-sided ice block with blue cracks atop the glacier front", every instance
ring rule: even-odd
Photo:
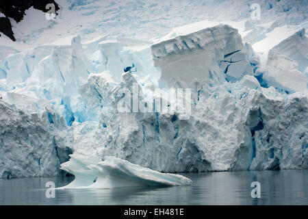
[[[159,42],[151,46],[155,66],[162,69],[160,83],[176,87],[191,87],[192,82],[237,81],[243,75],[252,75],[253,69],[246,60],[246,51],[240,34],[228,25],[218,25],[186,36]],[[225,76],[217,73],[223,71]]]

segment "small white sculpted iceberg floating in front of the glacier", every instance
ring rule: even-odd
[[[70,157],[61,168],[75,175],[75,179],[59,189],[192,185],[190,179],[181,175],[157,172],[117,157],[105,156],[102,162],[96,157],[78,154]]]

